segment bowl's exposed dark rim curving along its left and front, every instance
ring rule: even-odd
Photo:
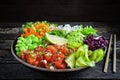
[[[19,37],[19,36],[18,36]],[[17,38],[18,38],[17,37]],[[22,59],[20,59],[17,55],[16,55],[16,52],[15,52],[15,45],[16,45],[16,42],[17,42],[17,38],[13,41],[12,45],[11,45],[11,51],[12,51],[12,55],[22,64],[24,64],[25,66],[27,67],[30,67],[32,69],[36,69],[36,70],[41,70],[41,71],[48,71],[48,72],[71,72],[71,71],[77,71],[77,70],[82,70],[82,69],[85,69],[87,67],[81,67],[81,68],[73,68],[73,69],[46,69],[46,68],[42,68],[42,67],[37,67],[37,66],[34,66],[34,65],[31,65],[25,61],[23,61]]]

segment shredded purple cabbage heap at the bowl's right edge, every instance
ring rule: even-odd
[[[105,49],[108,45],[108,41],[103,36],[94,37],[93,35],[88,35],[84,43],[89,46],[89,50],[95,50],[98,48]]]

